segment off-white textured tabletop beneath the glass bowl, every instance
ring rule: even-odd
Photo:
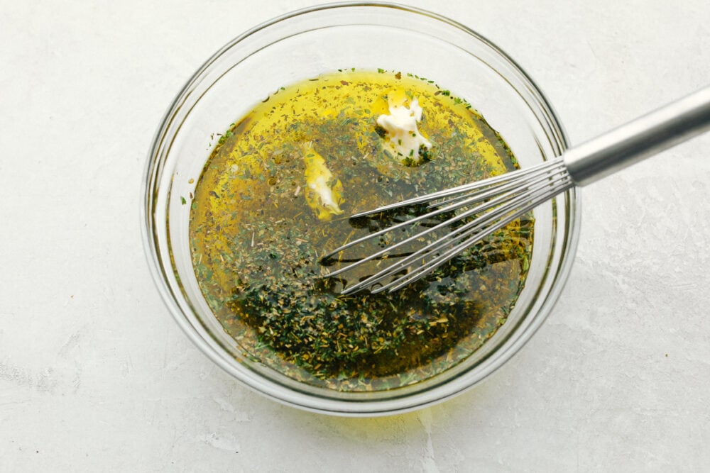
[[[414,1],[506,50],[572,143],[710,83],[707,0]],[[710,135],[584,192],[547,323],[402,416],[253,394],[173,323],[143,257],[146,152],[190,74],[312,1],[0,0],[0,471],[702,471]]]

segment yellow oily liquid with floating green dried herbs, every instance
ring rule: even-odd
[[[416,131],[431,146],[416,160],[397,155],[377,124],[393,99],[422,109]],[[244,353],[288,377],[341,391],[420,382],[506,321],[532,222],[510,223],[394,294],[340,296],[373,268],[324,278],[319,255],[373,231],[352,213],[515,167],[466,101],[426,79],[341,71],[293,84],[231,126],[204,167],[190,212],[197,281]]]

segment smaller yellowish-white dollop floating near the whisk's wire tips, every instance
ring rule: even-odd
[[[340,209],[340,204],[343,202],[343,184],[340,179],[333,182],[332,172],[310,141],[303,144],[303,160],[306,165],[304,195],[308,206],[323,221],[328,221],[334,215],[343,213]]]

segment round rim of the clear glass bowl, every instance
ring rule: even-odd
[[[249,28],[249,30],[246,30],[244,33],[236,36],[233,40],[230,40],[222,46],[222,48],[219,48],[216,52],[214,52],[214,54],[204,61],[202,65],[192,74],[192,76],[187,79],[185,85],[182,86],[163,114],[163,118],[161,118],[158,128],[153,135],[151,148],[148,151],[148,159],[146,160],[146,167],[144,168],[143,185],[141,189],[141,195],[143,196],[140,214],[141,233],[144,255],[146,256],[146,262],[150,268],[153,282],[158,288],[158,292],[160,292],[163,303],[167,306],[173,316],[173,319],[187,335],[187,338],[190,339],[190,341],[195,344],[195,346],[204,355],[206,355],[212,362],[222,368],[225,372],[231,374],[232,377],[238,379],[241,385],[246,386],[253,391],[258,391],[258,393],[263,396],[278,401],[281,404],[294,406],[306,411],[327,413],[338,416],[383,416],[391,415],[393,413],[404,413],[418,408],[423,408],[425,406],[430,406],[432,404],[438,404],[441,401],[451,399],[452,397],[461,394],[461,392],[471,389],[473,386],[484,381],[493,372],[496,372],[496,370],[506,364],[506,362],[508,362],[516,353],[520,351],[525,343],[528,343],[530,338],[532,338],[532,335],[534,335],[535,332],[542,326],[542,323],[544,323],[547,316],[549,316],[552,311],[552,308],[557,303],[559,295],[562,293],[562,290],[567,283],[569,272],[572,269],[581,227],[581,194],[579,193],[579,189],[573,188],[564,194],[564,199],[566,199],[566,204],[564,205],[564,209],[566,211],[565,222],[567,222],[567,228],[569,228],[569,231],[562,233],[562,235],[564,235],[564,239],[562,239],[559,243],[559,245],[561,245],[564,249],[562,255],[560,256],[561,264],[559,265],[557,272],[552,274],[554,280],[544,303],[540,306],[540,309],[535,314],[535,317],[531,323],[523,328],[520,335],[518,335],[515,340],[512,340],[512,343],[501,345],[502,351],[497,353],[496,360],[485,364],[483,369],[480,370],[476,381],[465,384],[464,386],[457,386],[456,389],[449,389],[443,392],[441,392],[441,386],[436,385],[428,391],[418,392],[413,396],[393,396],[392,399],[376,399],[372,401],[327,399],[324,397],[316,398],[311,394],[299,392],[297,394],[299,394],[300,401],[303,401],[305,396],[305,398],[310,399],[310,402],[297,402],[293,399],[284,399],[283,396],[278,395],[277,391],[282,391],[284,388],[288,389],[288,386],[283,386],[282,384],[278,384],[278,382],[273,382],[272,380],[258,379],[258,377],[249,377],[246,379],[244,374],[239,372],[238,369],[235,369],[235,367],[226,360],[224,353],[218,352],[212,345],[209,345],[209,343],[202,338],[200,333],[197,333],[195,326],[190,323],[187,314],[182,311],[178,304],[175,304],[175,296],[177,296],[177,294],[175,294],[173,289],[170,287],[170,284],[166,281],[165,272],[163,270],[165,267],[170,267],[170,262],[168,262],[168,265],[163,264],[164,261],[163,258],[160,257],[158,242],[156,238],[154,238],[157,226],[155,225],[153,212],[148,211],[149,209],[153,209],[155,206],[154,191],[158,180],[157,177],[159,177],[162,172],[161,165],[163,165],[163,163],[160,163],[158,159],[160,154],[159,151],[161,143],[163,143],[163,140],[168,134],[170,123],[173,120],[176,111],[178,111],[181,104],[183,104],[195,84],[200,82],[204,72],[207,71],[207,69],[209,69],[214,62],[219,60],[224,52],[230,50],[245,38],[249,38],[251,35],[257,34],[261,30],[270,28],[271,26],[274,26],[282,21],[318,11],[347,9],[353,7],[379,7],[405,11],[407,13],[415,13],[426,16],[435,21],[445,23],[463,33],[466,33],[466,35],[472,36],[487,48],[490,48],[493,52],[495,52],[501,60],[506,61],[517,74],[520,74],[520,78],[523,79],[523,82],[527,82],[528,86],[531,88],[530,92],[532,92],[537,99],[536,104],[541,106],[545,114],[552,118],[552,128],[559,133],[557,138],[559,139],[559,144],[562,146],[562,150],[569,147],[564,127],[562,126],[562,123],[560,123],[557,113],[555,113],[550,101],[547,100],[540,87],[537,86],[535,81],[533,81],[528,73],[525,72],[525,69],[520,67],[520,65],[518,65],[512,57],[510,57],[510,55],[471,28],[447,18],[446,16],[439,15],[438,13],[433,13],[414,6],[405,6],[386,1],[340,1],[308,6],[306,8],[284,13],[280,16],[275,16],[268,21],[264,21],[256,26],[253,26],[252,28]],[[432,396],[432,393],[436,393],[437,395]],[[429,394],[429,396],[422,396],[425,394]]]

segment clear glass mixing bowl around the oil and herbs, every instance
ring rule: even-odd
[[[187,336],[222,369],[272,399],[310,411],[375,416],[437,403],[501,367],[540,327],[567,279],[579,234],[574,190],[535,210],[530,271],[508,321],[465,362],[389,391],[339,392],[295,382],[250,361],[204,301],[190,260],[190,195],[212,133],[285,84],[324,72],[402,70],[467,99],[525,168],[561,154],[562,126],[532,80],[490,41],[442,16],[392,4],[331,4],[253,28],[209,58],[185,84],[151,148],[143,220],[160,294]]]

